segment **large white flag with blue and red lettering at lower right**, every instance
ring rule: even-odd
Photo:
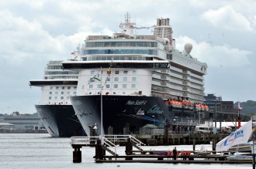
[[[225,151],[237,144],[247,144],[252,132],[252,120],[216,144],[216,151]]]

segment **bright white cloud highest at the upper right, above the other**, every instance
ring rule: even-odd
[[[216,10],[209,9],[204,12],[201,17],[218,28],[235,31],[254,30],[251,22],[243,14],[236,12],[231,5],[227,5]]]

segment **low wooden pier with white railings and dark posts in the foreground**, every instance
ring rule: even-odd
[[[173,136],[179,138],[182,136]],[[221,136],[222,137],[222,136]],[[193,137],[192,143],[196,143]],[[201,137],[199,137],[201,139]],[[213,138],[213,146],[216,145],[216,138]],[[118,146],[125,146],[125,154],[121,155],[117,152]],[[183,154],[178,150],[177,160],[173,160],[170,154],[171,150],[144,150],[146,145],[136,137],[131,135],[105,135],[100,137],[71,137],[71,146],[73,151],[73,162],[81,163],[81,147],[95,147],[95,162],[96,163],[184,163],[184,164],[251,164],[252,161],[227,161],[227,156],[233,154],[235,150],[225,152],[224,154],[216,154],[215,147],[211,151],[199,152],[195,150],[186,150],[188,154]],[[195,146],[193,146],[194,149]],[[248,151],[248,148],[244,148]]]

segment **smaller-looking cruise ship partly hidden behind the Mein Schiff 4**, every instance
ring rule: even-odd
[[[63,70],[61,63],[48,62],[43,79],[29,81],[30,86],[40,86],[42,91],[36,111],[51,137],[81,136],[85,132],[70,100],[76,94],[78,72]]]

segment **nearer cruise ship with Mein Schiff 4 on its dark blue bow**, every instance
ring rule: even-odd
[[[135,33],[144,28],[154,34]],[[184,52],[175,49],[169,19],[137,27],[127,14],[119,29],[112,36],[89,35],[76,52],[79,61],[62,63],[64,69],[79,72],[71,103],[86,134],[91,127],[97,134],[109,129],[112,134],[136,134],[148,123],[163,127],[176,116],[194,116],[195,103],[204,101],[207,65],[189,54],[192,45],[186,44]],[[191,102],[192,110],[171,105],[171,100]]]

